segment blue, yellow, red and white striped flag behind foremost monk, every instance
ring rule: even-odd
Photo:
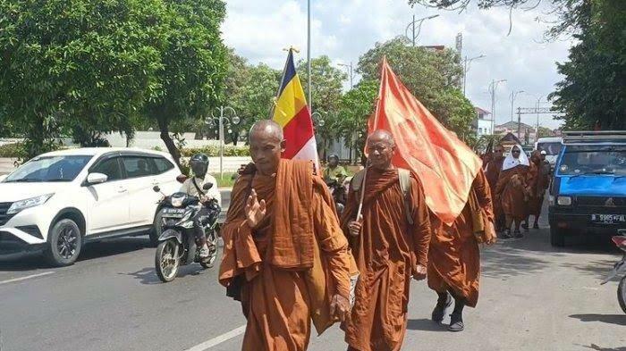
[[[283,158],[311,160],[317,165],[317,144],[313,130],[313,120],[304,89],[293,64],[293,51],[289,50],[287,63],[284,65],[283,79],[278,90],[274,107],[275,122],[283,127],[286,140]]]

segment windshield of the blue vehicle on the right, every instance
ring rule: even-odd
[[[614,174],[626,175],[626,149],[611,148],[565,150],[559,166],[563,175]]]

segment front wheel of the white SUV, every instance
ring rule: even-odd
[[[82,235],[75,221],[57,221],[50,230],[46,251],[47,262],[55,267],[63,267],[76,262],[82,248]]]

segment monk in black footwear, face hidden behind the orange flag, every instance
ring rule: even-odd
[[[481,224],[472,216],[480,212]],[[480,279],[479,243],[495,243],[494,211],[491,190],[484,171],[478,171],[469,192],[468,202],[451,226],[445,225],[431,213],[433,236],[428,250],[428,287],[437,293],[432,313],[434,322],[444,321],[446,309],[452,305],[448,330],[461,331],[463,307],[476,307]],[[477,229],[482,226],[482,230]],[[453,298],[452,298],[453,297]]]

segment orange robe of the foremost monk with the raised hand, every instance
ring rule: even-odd
[[[219,280],[228,286],[234,278],[245,277],[241,307],[248,324],[243,351],[305,350],[309,345],[311,318],[321,333],[332,324],[328,315],[330,297],[334,293],[350,297],[351,256],[332,198],[321,178],[299,177],[298,173],[289,171],[290,167],[283,167],[294,163],[282,160],[276,177],[242,175],[233,188],[231,207],[222,229],[224,255]],[[309,191],[310,196],[304,197],[310,203],[281,201],[280,198],[290,197],[286,194],[289,189],[279,188],[277,178],[292,182],[298,189],[296,192]],[[267,206],[266,217],[255,230],[250,230],[243,212],[250,185],[257,191],[259,201],[264,199]],[[283,211],[279,213],[278,208]],[[273,229],[283,228],[292,221],[302,222],[308,214],[312,221],[309,237],[315,245],[313,256],[317,259],[312,261],[315,265],[289,268],[302,257],[304,262],[309,261],[308,248],[302,244],[309,237],[306,232],[297,233],[292,228],[292,237],[285,238]],[[289,240],[293,243],[286,244]],[[327,270],[332,277],[326,285],[321,282],[321,287],[316,278],[320,270]]]

